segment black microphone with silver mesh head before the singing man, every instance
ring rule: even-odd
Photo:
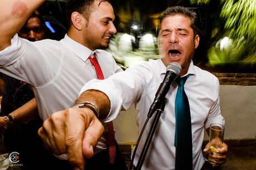
[[[179,63],[170,63],[166,68],[166,73],[163,82],[160,84],[157,89],[154,102],[151,104],[149,113],[147,117],[151,117],[153,113],[155,113],[156,109],[160,108],[160,104],[165,99],[166,94],[168,93],[171,84],[175,81],[175,79],[179,76],[181,71],[181,66]]]

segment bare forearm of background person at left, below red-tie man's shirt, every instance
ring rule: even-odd
[[[23,106],[10,113],[10,115],[13,116],[15,120],[28,123],[38,116],[36,99],[31,99],[27,103],[23,104]]]

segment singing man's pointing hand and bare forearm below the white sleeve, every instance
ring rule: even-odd
[[[85,91],[75,104],[91,102],[99,108],[99,119],[104,119],[110,111],[110,101],[105,93],[95,90]],[[74,168],[84,169],[85,158],[93,156],[104,127],[89,108],[68,108],[55,112],[43,122],[38,134],[45,147],[57,155],[67,153]]]

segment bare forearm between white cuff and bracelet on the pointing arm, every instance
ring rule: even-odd
[[[75,104],[81,102],[91,102],[96,104],[99,108],[100,116],[99,119],[104,119],[110,112],[110,101],[105,93],[96,90],[88,90],[83,92],[80,97],[76,100]]]

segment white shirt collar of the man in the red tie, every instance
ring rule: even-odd
[[[83,46],[82,44],[74,41],[70,37],[65,35],[65,37],[61,40],[67,48],[69,48],[73,53],[75,53],[79,58],[82,59],[83,62],[85,62],[91,54],[96,53],[97,50],[91,51],[91,49]]]

